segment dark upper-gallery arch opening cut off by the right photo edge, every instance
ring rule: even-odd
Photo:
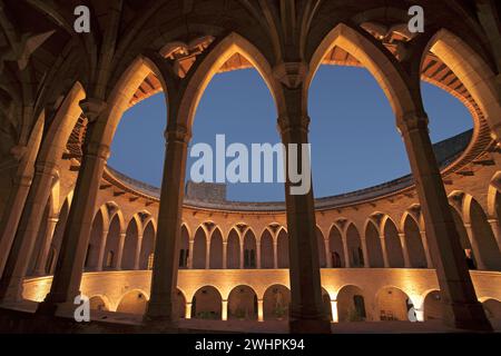
[[[485,212],[475,199],[471,199],[470,219],[473,237],[478,245],[480,254],[485,268],[500,270],[501,269],[501,254],[499,251],[498,243],[492,233],[492,228],[488,222]]]

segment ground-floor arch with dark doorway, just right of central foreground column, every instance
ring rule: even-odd
[[[362,289],[357,286],[344,286],[337,293],[337,320],[363,322],[367,319],[367,307]]]

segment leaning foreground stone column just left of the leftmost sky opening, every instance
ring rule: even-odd
[[[75,297],[80,295],[80,283],[92,228],[96,199],[102,171],[109,157],[109,147],[100,141],[95,141],[92,137],[94,131],[98,129],[96,119],[106,107],[105,102],[98,99],[86,99],[80,102],[80,106],[89,119],[84,156],[52,285],[46,299],[38,307],[39,313],[53,314],[58,305],[65,304],[69,304],[73,308]]]

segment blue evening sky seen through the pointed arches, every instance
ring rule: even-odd
[[[469,111],[455,98],[422,83],[433,142],[472,128]],[[410,172],[405,148],[390,103],[371,73],[362,68],[322,66],[310,92],[312,169],[315,197],[371,187]],[[164,93],[129,109],[117,129],[108,164],[160,186],[166,125]],[[254,69],[217,75],[198,107],[190,147],[216,135],[226,145],[279,142],[272,96]],[[189,150],[188,150],[189,152]],[[189,158],[187,179],[193,162]],[[229,162],[228,158],[226,162]],[[229,200],[284,199],[282,184],[228,184]]]

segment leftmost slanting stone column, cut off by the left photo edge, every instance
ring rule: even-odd
[[[8,208],[3,210],[0,221],[0,276],[3,274],[3,268],[9,257],[22,208],[30,190],[31,179],[31,176],[16,178],[6,204]]]

